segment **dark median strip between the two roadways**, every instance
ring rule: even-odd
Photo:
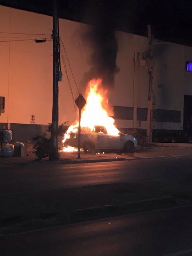
[[[0,197],[0,234],[177,207],[192,201],[186,195],[184,199],[172,196],[172,193],[159,195],[154,192],[152,182],[3,194]]]

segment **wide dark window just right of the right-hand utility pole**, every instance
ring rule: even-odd
[[[155,119],[156,122],[180,123],[181,111],[167,110],[167,109],[154,109],[153,119]]]

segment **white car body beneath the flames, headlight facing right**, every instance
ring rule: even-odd
[[[81,129],[81,148],[85,153],[93,153],[98,150],[119,150],[131,152],[137,147],[137,140],[128,134],[119,132],[118,135],[109,135],[103,126],[94,126],[95,132],[90,132],[87,128]],[[78,147],[78,129],[69,133],[63,145],[65,147]]]

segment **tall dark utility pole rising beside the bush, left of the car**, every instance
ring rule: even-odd
[[[57,14],[57,0],[53,0],[53,105],[52,105],[52,149],[50,160],[58,160],[58,120],[59,120],[59,104],[58,104],[58,80],[59,80],[59,29],[58,29],[58,14]]]

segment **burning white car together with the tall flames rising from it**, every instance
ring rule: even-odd
[[[86,104],[81,115],[81,147],[84,152],[92,153],[94,150],[130,152],[137,147],[137,140],[131,135],[120,132],[112,116],[113,108],[108,103],[108,90],[102,86],[101,79],[92,79],[87,85]],[[74,151],[74,148],[78,147],[78,125],[76,121],[64,134],[63,151]]]

